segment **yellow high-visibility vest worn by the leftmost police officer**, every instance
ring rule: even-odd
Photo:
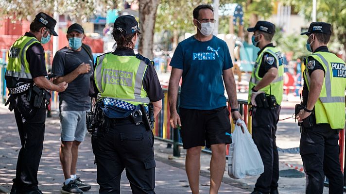
[[[26,51],[35,43],[40,42],[35,37],[30,36],[22,36],[13,43],[8,54],[6,76],[25,79],[33,78],[26,59]]]

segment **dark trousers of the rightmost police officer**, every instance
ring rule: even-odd
[[[302,128],[300,155],[306,174],[306,194],[322,194],[325,176],[329,179],[329,194],[344,193],[341,172],[339,130],[329,124]]]

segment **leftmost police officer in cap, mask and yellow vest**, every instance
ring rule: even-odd
[[[65,82],[55,85],[45,77],[46,61],[41,44],[48,43],[52,35],[57,36],[55,24],[51,16],[37,14],[30,31],[9,50],[5,79],[11,96],[7,103],[15,112],[22,146],[11,194],[42,194],[37,186],[37,170],[43,148],[46,102],[50,98],[45,89],[62,92],[67,87]]]

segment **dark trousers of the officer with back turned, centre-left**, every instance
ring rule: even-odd
[[[111,119],[108,131],[98,130],[91,144],[100,194],[120,194],[124,169],[133,194],[155,194],[154,134],[143,123]]]

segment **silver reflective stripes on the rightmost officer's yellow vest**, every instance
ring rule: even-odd
[[[323,61],[324,65],[326,65],[326,77],[325,77],[325,84],[326,84],[326,97],[319,97],[322,103],[331,103],[331,102],[344,102],[345,103],[345,97],[332,97],[331,96],[331,81],[330,81],[330,68],[329,63],[327,60],[321,55],[321,54],[314,54],[317,55],[321,60]],[[305,71],[305,76],[308,80],[308,88],[310,90],[310,75],[307,73],[308,71]]]

